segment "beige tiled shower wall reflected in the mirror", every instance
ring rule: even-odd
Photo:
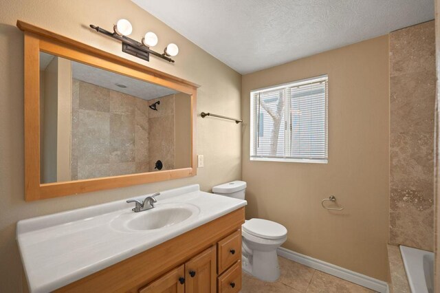
[[[149,109],[152,102],[74,80],[72,180],[154,171],[155,161],[164,160],[164,154],[154,150],[162,141],[172,144],[165,150],[164,167],[170,165],[175,143],[174,96],[161,98],[159,111]],[[157,116],[166,116],[168,123],[155,126]]]

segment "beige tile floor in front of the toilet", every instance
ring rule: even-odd
[[[243,272],[241,293],[363,293],[374,292],[366,287],[356,285],[314,270],[300,263],[278,257],[281,277],[274,283],[260,281]]]

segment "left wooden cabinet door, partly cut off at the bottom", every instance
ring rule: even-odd
[[[184,293],[185,292],[185,265],[164,274],[153,283],[139,290],[139,293]]]

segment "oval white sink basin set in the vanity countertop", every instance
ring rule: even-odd
[[[116,230],[148,231],[164,229],[199,214],[199,208],[192,204],[157,204],[155,208],[139,213],[128,211],[111,221],[111,227]]]

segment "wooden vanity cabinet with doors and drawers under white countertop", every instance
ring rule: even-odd
[[[239,208],[55,292],[239,292],[244,221]]]

